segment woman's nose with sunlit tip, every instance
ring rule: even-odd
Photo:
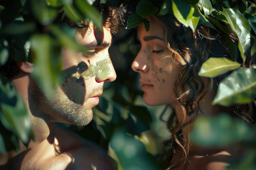
[[[132,70],[136,72],[148,72],[149,66],[144,52],[139,52],[132,62]]]

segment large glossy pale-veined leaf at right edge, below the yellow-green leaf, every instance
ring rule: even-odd
[[[256,97],[256,71],[241,67],[223,79],[212,104],[246,104]]]

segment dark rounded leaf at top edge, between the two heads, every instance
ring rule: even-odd
[[[158,8],[148,0],[141,0],[136,6],[136,12],[141,18],[144,18],[157,14]]]

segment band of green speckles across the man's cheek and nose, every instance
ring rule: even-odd
[[[109,64],[112,63],[110,58],[105,58],[97,62],[95,65],[87,65],[84,62],[80,62],[77,67],[70,68],[63,71],[62,76],[64,79],[72,77],[73,80],[78,80],[82,76],[84,79],[89,79],[90,77],[97,77],[98,80],[107,79],[110,75]]]

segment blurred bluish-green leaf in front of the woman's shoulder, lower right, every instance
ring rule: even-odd
[[[190,139],[194,144],[204,147],[225,147],[239,141],[248,141],[252,130],[241,119],[227,114],[215,117],[200,117]]]

